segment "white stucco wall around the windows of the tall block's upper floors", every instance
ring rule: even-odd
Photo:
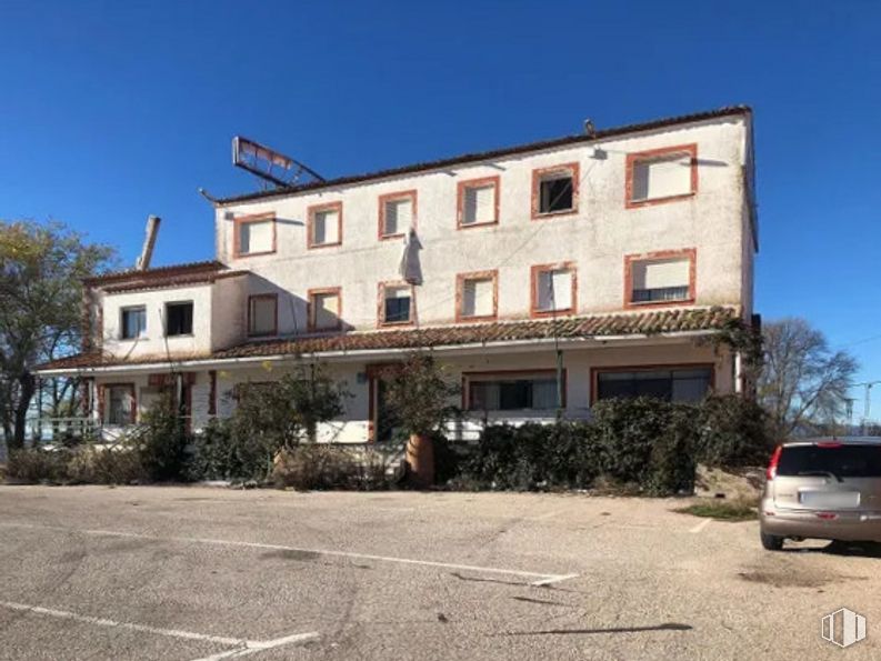
[[[628,209],[624,204],[625,158],[630,152],[698,144],[698,193],[674,202]],[[740,304],[751,300],[751,259],[743,243],[745,129],[742,118],[724,118],[648,131],[627,138],[520,154],[470,164],[342,187],[340,189],[254,201],[217,210],[218,258],[250,269],[254,292],[278,288],[280,332],[302,330],[309,289],[341,287],[344,322],[368,329],[377,324],[377,287],[398,280],[401,241],[378,239],[378,199],[418,191],[418,232],[424,284],[418,289],[420,323],[454,320],[458,273],[499,270],[499,317],[529,316],[530,267],[562,261],[578,269],[578,312],[620,310],[624,299],[624,256],[697,248],[697,304]],[[580,203],[577,214],[531,219],[532,170],[578,162]],[[500,177],[500,220],[495,226],[457,229],[457,184]],[[343,240],[339,247],[307,249],[307,209],[343,203]],[[274,212],[277,252],[237,259],[233,218]],[[751,254],[749,256],[751,258]],[[296,319],[296,323],[294,323]]]

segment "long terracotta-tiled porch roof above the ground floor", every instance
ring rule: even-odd
[[[251,341],[213,353],[192,355],[114,357],[79,353],[47,362],[38,373],[91,371],[122,365],[168,365],[170,362],[198,363],[272,359],[300,354],[340,354],[442,348],[492,345],[508,342],[603,339],[701,333],[723,329],[738,318],[730,307],[662,309],[644,312],[590,314],[559,319],[530,319],[474,324],[439,326],[393,330],[352,331],[323,335],[301,335],[278,340]]]

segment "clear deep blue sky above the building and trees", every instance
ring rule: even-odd
[[[6,0],[0,30],[0,217],[127,263],[148,213],[156,263],[212,257],[236,133],[327,177],[749,103],[758,310],[881,379],[878,2]]]

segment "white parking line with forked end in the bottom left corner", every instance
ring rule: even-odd
[[[50,618],[59,618],[61,620],[73,620],[74,622],[83,622],[87,624],[96,624],[98,627],[111,627],[114,629],[128,629],[129,631],[140,631],[143,633],[153,633],[157,635],[168,635],[171,638],[181,638],[183,640],[197,640],[201,642],[213,642],[221,645],[234,647],[233,650],[220,652],[212,657],[206,657],[198,661],[214,661],[216,659],[231,659],[233,657],[244,657],[247,654],[256,654],[263,650],[271,650],[281,645],[293,644],[296,642],[303,642],[318,638],[318,632],[310,633],[296,633],[276,640],[247,640],[242,638],[226,638],[222,635],[210,635],[208,633],[196,633],[193,631],[181,631],[179,629],[160,629],[158,627],[150,627],[148,624],[136,624],[133,622],[118,622],[116,620],[108,620],[107,618],[94,618],[92,615],[81,615],[70,611],[62,611],[58,609],[43,608],[40,605],[29,605],[26,603],[16,603],[14,601],[0,601],[0,607],[13,611],[33,613],[36,615],[48,615]]]

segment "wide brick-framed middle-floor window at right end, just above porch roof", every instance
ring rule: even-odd
[[[694,250],[627,258],[627,304],[675,304],[694,300]]]

